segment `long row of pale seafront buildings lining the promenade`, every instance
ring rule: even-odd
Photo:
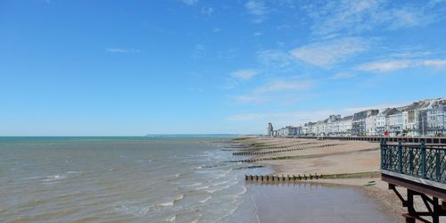
[[[359,111],[351,116],[330,115],[326,120],[307,122],[275,130],[268,123],[268,136],[445,136],[446,98],[408,106]]]

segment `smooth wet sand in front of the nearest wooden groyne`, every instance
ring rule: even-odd
[[[260,222],[399,222],[352,186],[248,186]],[[402,222],[402,221],[401,221]]]

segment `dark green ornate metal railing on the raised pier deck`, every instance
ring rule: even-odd
[[[446,183],[446,145],[381,142],[381,169]]]

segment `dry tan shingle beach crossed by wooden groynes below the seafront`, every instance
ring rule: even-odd
[[[380,178],[378,143],[269,137],[243,138],[235,142],[247,146],[244,151],[253,153],[252,159],[259,160],[256,163],[271,166],[276,175],[322,174],[326,177],[309,181],[358,188],[376,202],[380,210],[397,221],[404,220],[401,214],[406,210],[401,201]],[[372,180],[376,185],[364,186]],[[405,197],[405,190],[398,189]],[[421,199],[416,199],[415,203],[418,210],[424,210]]]

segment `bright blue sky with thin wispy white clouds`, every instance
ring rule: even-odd
[[[0,1],[0,136],[264,133],[446,95],[446,2]]]

